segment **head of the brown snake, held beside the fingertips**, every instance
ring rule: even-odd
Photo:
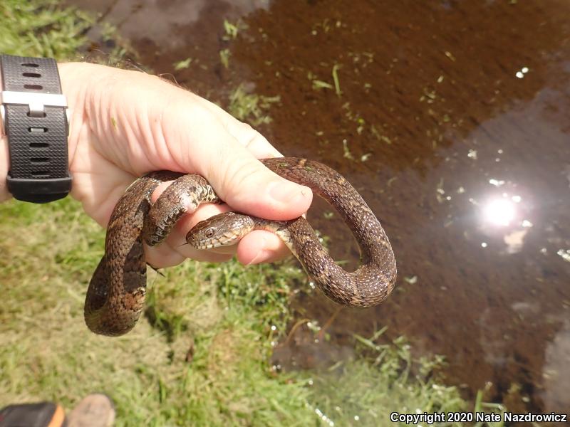
[[[197,223],[186,235],[186,241],[196,249],[212,249],[235,245],[254,228],[247,215],[224,212]]]

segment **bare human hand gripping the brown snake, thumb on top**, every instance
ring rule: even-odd
[[[88,63],[58,65],[71,109],[71,196],[102,226],[125,189],[146,172],[167,169],[206,178],[232,209],[285,220],[309,209],[308,187],[266,169],[257,159],[281,154],[249,125],[202,97],[153,75]],[[0,168],[1,169],[1,168]],[[153,201],[164,191],[161,185]],[[229,210],[206,204],[182,218],[161,246],[145,248],[160,268],[185,258],[222,261],[236,248],[197,251],[183,245],[197,222]],[[237,246],[242,263],[282,258],[287,249],[267,231],[249,233]]]

